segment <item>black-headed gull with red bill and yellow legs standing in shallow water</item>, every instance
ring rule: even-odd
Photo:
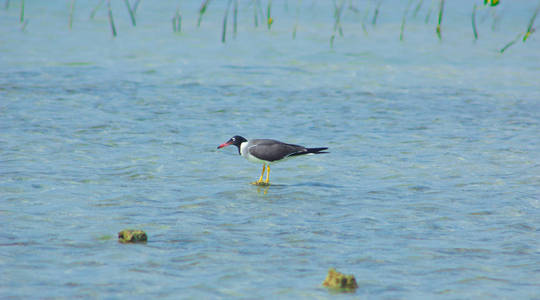
[[[252,182],[255,185],[270,185],[270,164],[277,163],[279,161],[287,160],[291,157],[304,155],[304,154],[322,154],[327,150],[327,147],[321,148],[306,148],[304,146],[287,144],[276,140],[270,139],[255,139],[246,140],[244,137],[235,135],[227,142],[218,146],[218,149],[235,145],[238,148],[238,154],[242,155],[250,162],[260,163],[263,165],[261,177],[259,180]],[[265,169],[266,180],[263,181],[263,175]]]

